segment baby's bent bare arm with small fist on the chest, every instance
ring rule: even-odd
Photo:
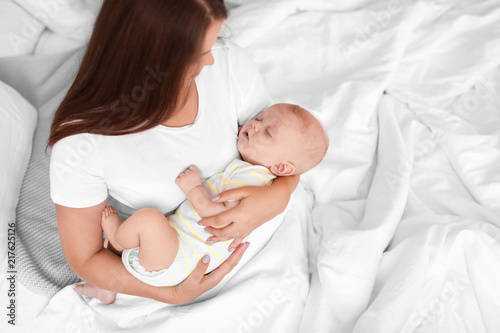
[[[217,215],[236,207],[240,203],[239,201],[213,202],[212,196],[201,184],[200,172],[194,165],[191,165],[186,171],[182,172],[175,180],[175,183],[186,194],[186,198],[201,218]]]

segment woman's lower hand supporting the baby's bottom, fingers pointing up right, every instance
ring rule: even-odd
[[[214,288],[222,281],[224,276],[229,274],[238,264],[243,253],[248,249],[250,243],[240,244],[231,256],[222,263],[219,267],[205,275],[210,260],[203,262],[203,258],[198,262],[196,268],[191,272],[186,280],[182,281],[177,286],[174,286],[175,304],[186,304],[195,298],[201,296],[208,290]],[[207,256],[210,259],[209,256]],[[168,301],[167,301],[168,302]]]

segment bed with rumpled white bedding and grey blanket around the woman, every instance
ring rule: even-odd
[[[183,306],[82,297],[40,239],[57,239],[44,138],[99,7],[59,1],[45,20],[42,2],[0,1],[2,36],[40,22],[22,48],[0,39],[2,243],[16,229],[13,269],[0,249],[16,325],[4,310],[1,331],[500,330],[499,0],[227,1],[222,37],[331,144],[267,245]]]

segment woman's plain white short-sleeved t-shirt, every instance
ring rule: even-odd
[[[167,213],[185,200],[175,184],[179,173],[194,164],[206,179],[237,158],[238,124],[257,116],[272,99],[257,66],[240,47],[221,40],[212,53],[214,65],[195,80],[199,107],[193,124],[158,125],[121,136],[77,134],[58,141],[50,162],[54,203],[91,207],[109,195],[124,205],[125,216],[143,207]]]

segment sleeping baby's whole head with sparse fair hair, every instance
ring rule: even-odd
[[[276,176],[290,176],[321,162],[328,142],[315,116],[298,105],[280,103],[241,127],[238,150],[243,160],[263,165]]]

